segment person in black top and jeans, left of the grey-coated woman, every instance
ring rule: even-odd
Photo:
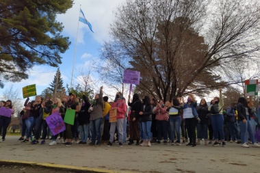
[[[81,136],[81,142],[79,145],[87,144],[88,139],[88,127],[90,124],[90,113],[88,109],[90,108],[90,101],[87,96],[83,95],[84,103],[81,106],[81,109],[78,114],[78,121],[79,121],[79,134]]]

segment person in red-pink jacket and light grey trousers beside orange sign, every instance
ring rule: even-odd
[[[118,146],[122,146],[123,142],[123,129],[124,129],[124,118],[127,113],[127,104],[125,103],[125,98],[122,97],[121,92],[116,93],[116,98],[110,110],[116,111],[116,122],[111,122],[110,125],[110,139],[107,146],[112,146],[114,142],[114,135],[116,131],[116,125],[118,129]]]

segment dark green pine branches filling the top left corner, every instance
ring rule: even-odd
[[[70,42],[55,18],[72,5],[72,0],[0,1],[0,77],[21,81],[34,65],[61,64],[60,53]]]

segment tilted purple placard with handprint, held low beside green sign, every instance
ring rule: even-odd
[[[58,133],[65,131],[65,124],[62,120],[62,116],[59,115],[59,112],[55,112],[54,114],[47,116],[45,120],[49,128],[51,129],[51,133],[53,133],[53,135],[57,135]]]

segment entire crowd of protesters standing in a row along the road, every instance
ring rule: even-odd
[[[0,107],[14,110],[12,101],[1,101]],[[244,97],[224,108],[222,89],[220,96],[214,97],[210,105],[202,98],[198,104],[192,94],[187,101],[184,98],[172,98],[172,101],[157,101],[156,98],[138,94],[129,95],[128,101],[121,92],[116,93],[113,102],[103,96],[103,87],[95,94],[90,103],[88,96],[77,98],[73,93],[60,98],[36,96],[36,101],[25,101],[20,116],[22,120],[22,143],[45,144],[49,127],[45,118],[58,114],[64,119],[67,109],[75,110],[74,124],[65,123],[66,130],[52,135],[49,145],[57,143],[71,146],[105,146],[118,144],[152,146],[152,144],[171,144],[197,146],[204,141],[205,146],[226,146],[226,142],[236,142],[242,147],[260,147],[255,139],[259,126],[260,105],[254,107],[252,101]],[[116,112],[116,119],[109,120],[109,114]],[[13,111],[14,112],[14,111]],[[13,113],[12,113],[13,114]],[[10,124],[11,117],[1,116],[1,142]],[[110,122],[111,121],[111,122]],[[57,138],[60,141],[57,141]],[[42,139],[39,142],[39,139]],[[87,143],[90,141],[89,143]],[[128,141],[128,142],[127,142]],[[259,142],[259,141],[258,141]]]

